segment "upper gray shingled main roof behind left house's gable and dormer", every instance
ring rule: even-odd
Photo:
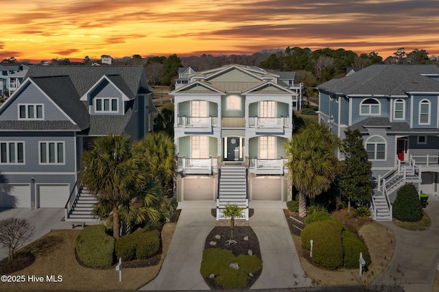
[[[137,95],[140,87],[149,90],[143,66],[32,66],[26,77],[56,75],[68,75],[81,97],[103,75],[120,75],[130,90],[130,95],[127,95],[130,99]]]

